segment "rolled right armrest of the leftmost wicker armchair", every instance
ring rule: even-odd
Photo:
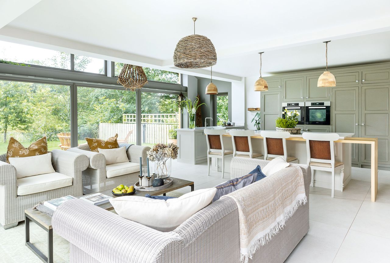
[[[51,151],[51,161],[56,172],[75,178],[87,169],[89,165],[88,157],[84,154],[73,153],[62,150]]]

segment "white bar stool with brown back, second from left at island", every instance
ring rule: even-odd
[[[254,153],[252,151],[252,140],[251,136],[255,135],[253,130],[230,130],[233,144],[233,157],[246,157],[255,158],[263,156],[261,153]]]

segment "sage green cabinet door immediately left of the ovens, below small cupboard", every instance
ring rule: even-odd
[[[261,129],[275,130],[275,119],[281,116],[281,91],[261,91]]]

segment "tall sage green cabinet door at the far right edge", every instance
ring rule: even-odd
[[[362,87],[361,137],[378,138],[378,163],[390,164],[390,85]],[[364,124],[364,125],[363,125]],[[371,148],[362,146],[362,162],[371,163]]]

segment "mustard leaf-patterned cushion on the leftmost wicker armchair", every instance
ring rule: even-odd
[[[46,137],[33,142],[28,148],[25,148],[18,140],[14,137],[9,139],[7,148],[7,163],[10,157],[28,157],[48,153],[48,142]]]

